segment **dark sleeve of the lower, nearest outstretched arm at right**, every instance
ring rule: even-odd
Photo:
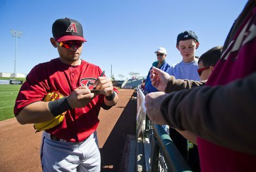
[[[225,86],[170,93],[161,104],[161,113],[172,127],[192,131],[220,146],[256,154],[255,84],[256,72]]]

